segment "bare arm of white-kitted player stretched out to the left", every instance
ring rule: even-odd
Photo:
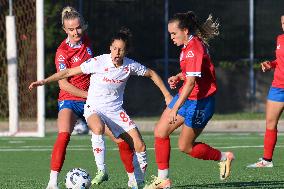
[[[35,87],[42,86],[42,85],[45,85],[45,84],[53,82],[53,81],[59,81],[61,79],[68,78],[68,77],[78,75],[78,74],[81,74],[81,73],[83,73],[83,72],[82,72],[80,66],[75,67],[75,68],[62,70],[60,72],[57,72],[57,73],[49,76],[46,79],[32,82],[29,86],[29,89],[32,90]]]

